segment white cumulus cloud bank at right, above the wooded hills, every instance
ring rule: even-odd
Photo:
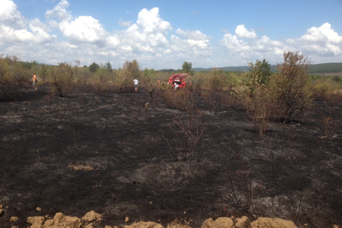
[[[272,40],[267,36],[258,39],[253,29],[247,31],[244,25],[239,25],[235,30],[236,35],[225,33],[220,40],[228,56],[235,60],[248,61],[251,59],[263,59],[270,62],[282,60],[282,53],[288,50],[300,50],[309,59],[316,61],[324,58],[332,61],[336,57],[342,61],[342,36],[335,32],[329,23],[320,27],[307,29],[306,34],[299,38],[286,39],[284,41]]]

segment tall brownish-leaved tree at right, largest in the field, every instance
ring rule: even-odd
[[[271,78],[273,97],[284,112],[287,123],[293,113],[302,113],[312,105],[309,76],[306,74],[311,61],[299,51],[285,51],[284,62],[278,64],[279,74]]]

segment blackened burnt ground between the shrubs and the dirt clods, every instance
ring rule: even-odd
[[[232,215],[342,226],[341,102],[315,101],[311,115],[273,121],[259,138],[242,108],[214,115],[197,97],[195,121],[205,128],[198,156],[183,162],[170,147],[179,147],[174,135],[182,135],[173,120],[185,123],[187,112],[158,96],[153,108],[142,87],[106,96],[84,88],[79,97],[52,101],[45,88],[22,95],[0,102],[0,227],[91,210],[102,216],[99,227],[123,226],[126,217],[201,227],[207,218]],[[18,220],[10,222],[12,216]]]

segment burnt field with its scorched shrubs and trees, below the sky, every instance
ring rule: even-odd
[[[176,91],[165,83],[174,71],[141,70],[136,60],[95,72],[79,61],[0,63],[1,226],[36,206],[44,215],[98,210],[113,224],[124,212],[165,225],[184,215],[198,227],[222,210],[300,226],[342,220],[341,82],[307,75],[299,52],[284,53],[279,73],[257,60],[244,74],[195,73],[192,88]]]

